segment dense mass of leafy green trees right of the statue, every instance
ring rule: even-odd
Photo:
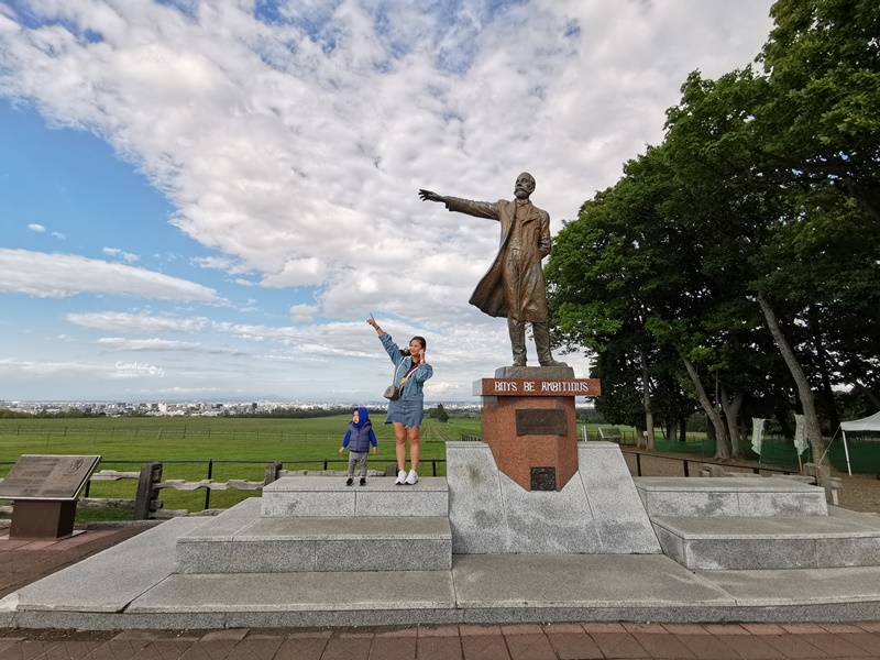
[[[582,206],[547,266],[554,332],[609,382],[597,407],[651,425],[678,380],[718,458],[744,451],[746,410],[787,426],[792,392],[816,457],[836,386],[880,404],[880,3],[772,15],[763,72],[691,74],[663,143]]]

